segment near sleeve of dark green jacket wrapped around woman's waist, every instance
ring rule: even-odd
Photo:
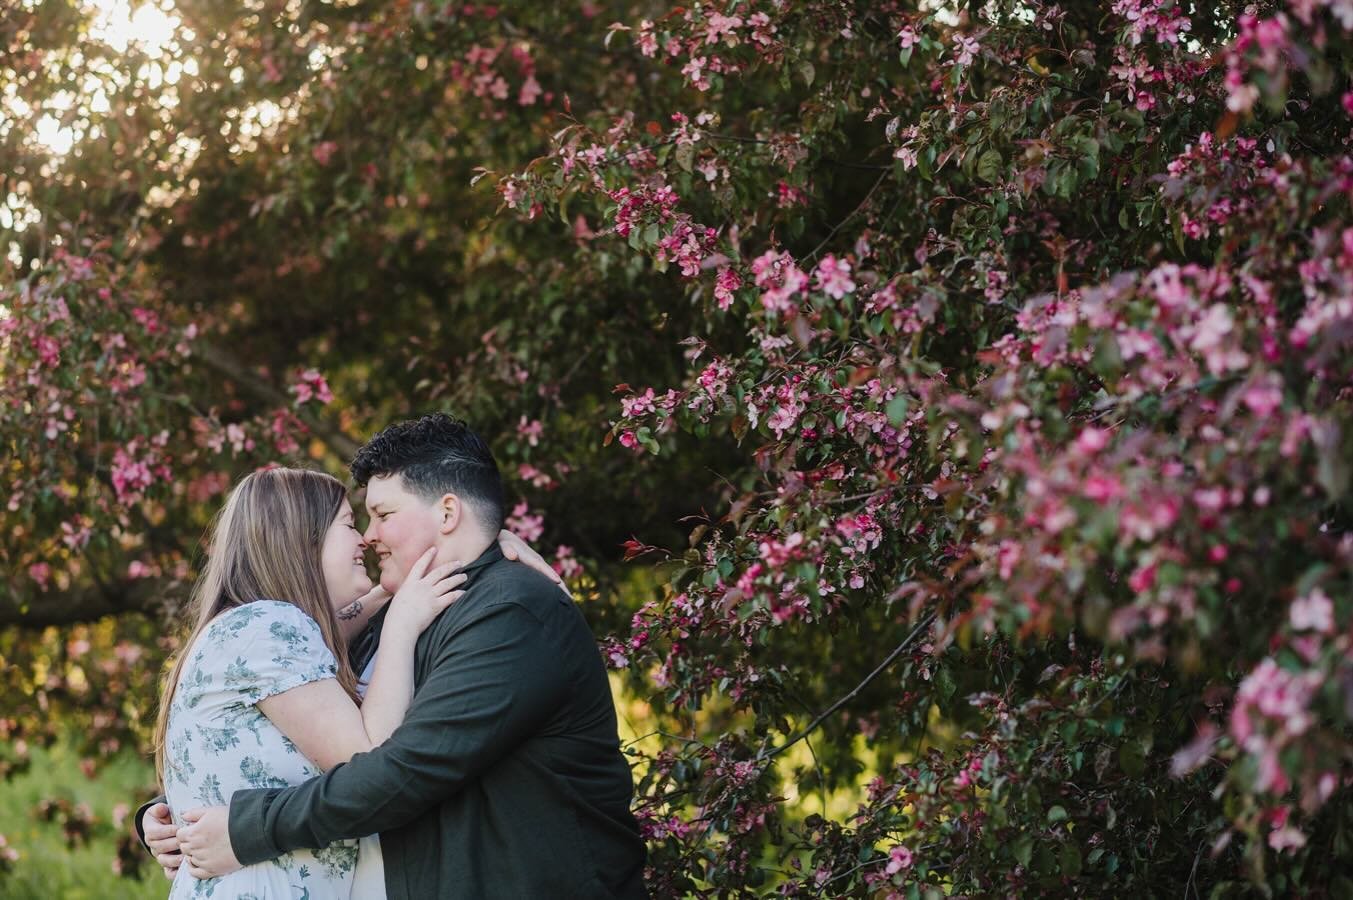
[[[241,863],[407,824],[559,709],[561,660],[522,606],[492,605],[453,642],[436,639],[428,678],[386,743],[302,785],[234,793],[230,845]]]

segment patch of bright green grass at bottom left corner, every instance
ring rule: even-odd
[[[0,874],[0,897],[5,900],[162,900],[169,882],[158,866],[146,858],[142,880],[123,878],[114,872],[116,839],[124,831],[112,827],[118,804],[143,800],[154,782],[149,761],[120,754],[100,769],[93,780],[80,771],[80,759],[62,744],[34,750],[32,766],[8,784],[0,782],[0,834],[19,851],[14,870]],[[34,815],[47,798],[87,804],[95,816],[88,845],[70,849],[60,822],[42,822]],[[122,828],[130,828],[130,816]]]

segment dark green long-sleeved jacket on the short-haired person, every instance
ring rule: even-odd
[[[403,724],[303,785],[235,792],[235,855],[379,832],[391,900],[644,897],[633,782],[582,613],[498,544],[465,571],[465,595],[418,639]]]

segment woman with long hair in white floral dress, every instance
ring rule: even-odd
[[[423,555],[390,601],[363,700],[346,652],[363,620],[338,612],[369,616],[388,597],[372,589],[364,551],[346,491],[329,475],[272,468],[231,491],[156,727],[156,769],[176,820],[229,803],[234,790],[322,774],[403,720],[418,635],[459,598],[465,577],[452,574],[460,563],[432,567],[433,552]],[[348,900],[357,846],[298,850],[221,878],[181,866],[169,896]]]

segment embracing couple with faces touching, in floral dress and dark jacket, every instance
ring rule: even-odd
[[[601,655],[499,531],[488,448],[428,415],[352,476],[365,533],[303,470],[246,476],[216,520],[161,702],[165,797],[137,815],[170,897],[645,896]]]

